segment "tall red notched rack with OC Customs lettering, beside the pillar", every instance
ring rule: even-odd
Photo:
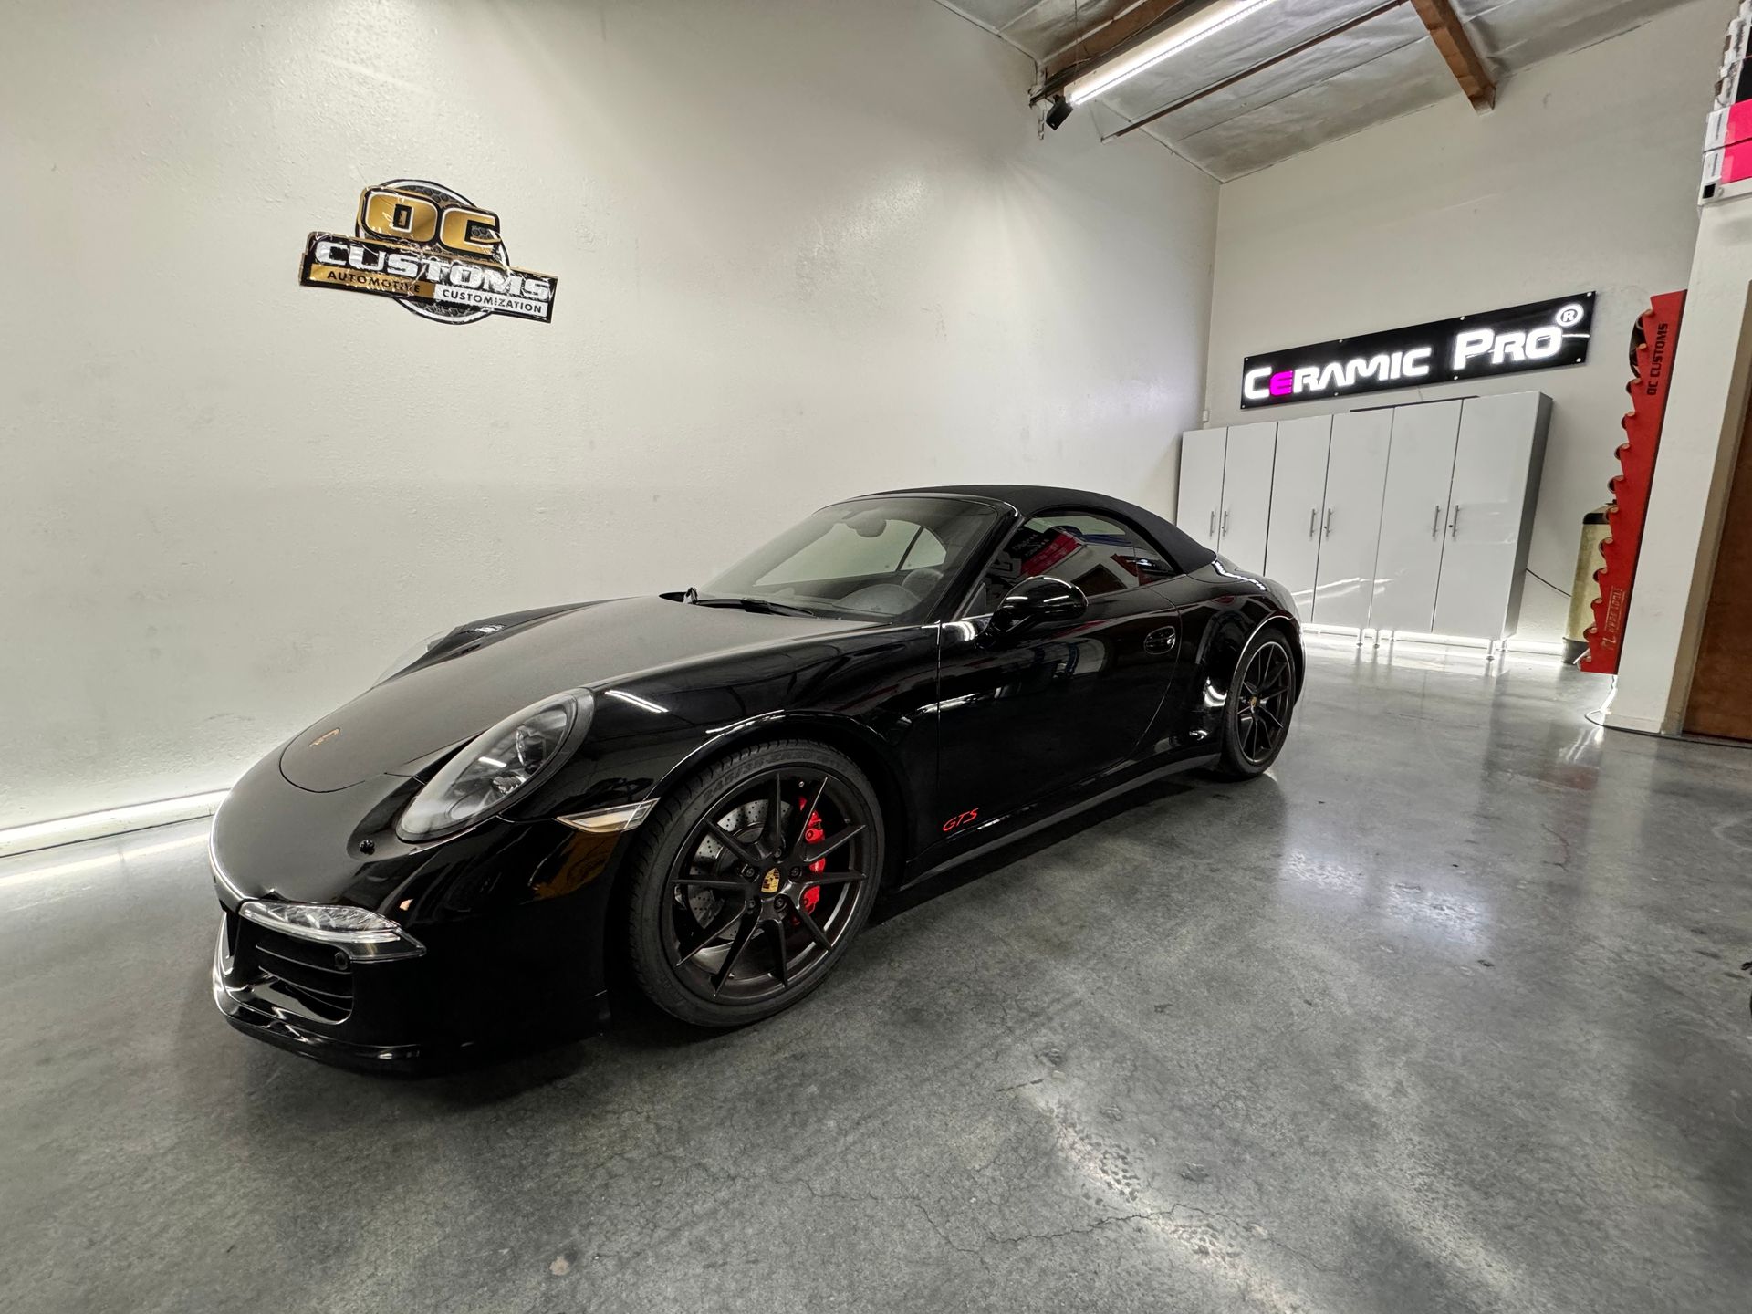
[[[1621,420],[1624,442],[1619,445],[1619,473],[1612,477],[1612,506],[1607,508],[1607,540],[1600,555],[1607,564],[1594,571],[1600,597],[1594,599],[1594,624],[1587,627],[1587,652],[1577,662],[1584,671],[1615,675],[1619,645],[1624,641],[1624,617],[1631,606],[1631,582],[1636,578],[1636,554],[1642,548],[1643,520],[1649,515],[1649,484],[1654,457],[1661,447],[1661,422],[1666,419],[1668,380],[1673,377],[1673,352],[1678,349],[1678,321],[1685,314],[1684,293],[1663,293],[1649,303],[1631,333],[1631,410]]]

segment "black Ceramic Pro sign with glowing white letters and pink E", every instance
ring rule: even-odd
[[[1242,363],[1240,405],[1282,406],[1361,392],[1386,392],[1587,361],[1594,294],[1486,310],[1358,338],[1249,356]]]

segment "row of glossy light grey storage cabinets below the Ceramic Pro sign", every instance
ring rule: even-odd
[[[1302,620],[1503,639],[1515,631],[1551,398],[1195,429],[1179,526],[1295,594]]]

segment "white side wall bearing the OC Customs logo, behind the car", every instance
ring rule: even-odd
[[[1214,184],[930,0],[14,5],[0,825],[226,785],[406,643],[939,480],[1174,506]],[[300,287],[429,177],[552,326]],[[23,231],[18,231],[23,224]]]

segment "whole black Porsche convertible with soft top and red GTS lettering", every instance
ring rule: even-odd
[[[703,587],[459,625],[214,818],[214,999],[396,1065],[606,1020],[734,1027],[883,890],[1167,771],[1265,771],[1286,590],[1069,489],[836,503]]]

